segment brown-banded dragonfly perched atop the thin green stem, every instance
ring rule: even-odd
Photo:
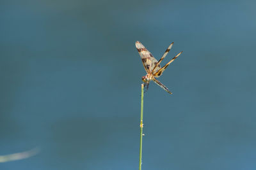
[[[140,41],[136,41],[135,45],[136,45],[138,52],[140,53],[140,57],[141,57],[143,66],[145,67],[145,70],[147,71],[147,74],[145,76],[142,76],[142,78],[141,78],[144,83],[144,86],[147,86],[147,90],[148,90],[149,82],[154,81],[157,85],[159,85],[161,88],[163,88],[166,92],[168,92],[169,94],[172,94],[172,92],[170,92],[170,90],[167,87],[165,87],[163,85],[163,83],[158,81],[156,78],[161,76],[163,74],[164,70],[166,69],[166,67],[168,67],[169,64],[171,64],[173,62],[173,60],[177,59],[177,57],[179,57],[179,55],[182,52],[179,52],[175,57],[173,57],[172,60],[170,60],[167,64],[165,64],[165,66],[161,67],[160,63],[162,62],[164,57],[166,57],[167,53],[170,52],[170,50],[173,46],[173,43],[171,43],[170,46],[168,46],[168,48],[164,52],[163,57],[161,57],[161,59],[158,61],[147,50],[147,48],[145,48],[145,46],[143,46],[140,43]]]

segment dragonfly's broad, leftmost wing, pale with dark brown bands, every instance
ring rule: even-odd
[[[140,57],[143,63],[143,66],[145,67],[145,70],[147,73],[151,73],[152,69],[156,66],[157,60],[153,57],[153,55],[148,52],[147,48],[143,46],[140,41],[136,41],[135,43],[136,48],[138,52],[140,53]],[[154,73],[157,73],[159,69],[161,68],[160,64],[154,69]]]

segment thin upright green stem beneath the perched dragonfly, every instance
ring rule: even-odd
[[[141,170],[141,159],[142,159],[142,136],[143,136],[143,96],[144,96],[144,84],[141,84],[141,111],[140,111],[140,166]]]

